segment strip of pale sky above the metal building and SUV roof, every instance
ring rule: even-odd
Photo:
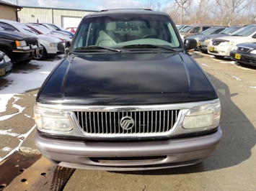
[[[142,8],[147,0],[2,0],[18,6],[40,6],[61,9],[102,9]],[[162,0],[164,1],[164,0]]]

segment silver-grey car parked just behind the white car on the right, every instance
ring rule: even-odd
[[[241,28],[242,26],[227,27],[226,29],[224,29],[218,34],[205,34],[198,39],[198,49],[203,53],[207,53],[207,46],[212,41],[212,39],[217,37],[229,36],[233,32],[236,32],[238,29],[241,29]]]

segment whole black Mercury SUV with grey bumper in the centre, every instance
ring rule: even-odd
[[[162,12],[84,17],[37,94],[40,152],[63,167],[114,171],[203,161],[221,140],[221,104],[187,54],[196,45]]]

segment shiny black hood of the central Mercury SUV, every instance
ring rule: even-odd
[[[183,53],[71,55],[45,81],[37,101],[66,104],[184,103],[217,98]]]

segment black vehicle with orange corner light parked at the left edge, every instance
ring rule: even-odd
[[[5,31],[0,27],[0,51],[14,63],[27,64],[39,54],[43,47],[39,40],[31,35]]]

